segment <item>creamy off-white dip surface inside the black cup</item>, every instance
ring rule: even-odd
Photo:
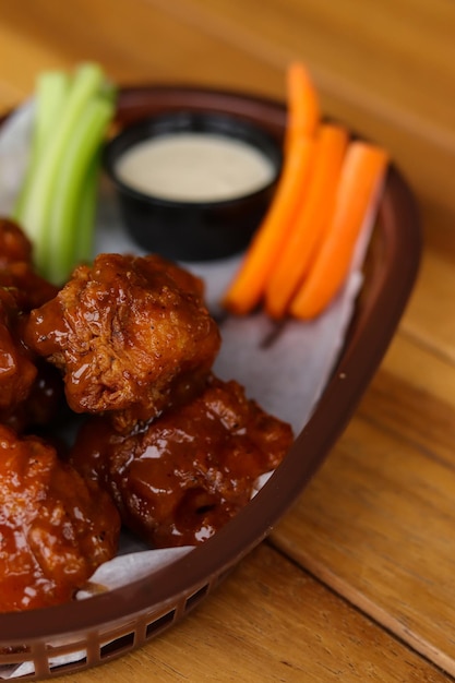
[[[215,202],[260,190],[273,180],[275,167],[242,141],[215,133],[173,133],[133,145],[119,158],[116,171],[145,194]]]

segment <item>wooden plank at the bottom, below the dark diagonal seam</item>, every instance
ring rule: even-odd
[[[62,683],[442,683],[441,671],[263,544],[185,621]]]

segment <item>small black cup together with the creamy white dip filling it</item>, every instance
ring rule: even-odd
[[[125,125],[103,165],[125,230],[171,261],[242,251],[263,219],[282,170],[282,140],[214,111],[167,111]]]

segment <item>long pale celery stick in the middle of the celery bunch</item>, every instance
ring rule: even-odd
[[[47,242],[60,164],[87,103],[99,91],[103,81],[104,74],[98,64],[83,64],[75,72],[53,134],[46,146],[46,153],[36,165],[21,212],[16,216],[34,243],[35,263],[43,275],[46,275],[48,265],[52,267],[52,264],[47,263]]]

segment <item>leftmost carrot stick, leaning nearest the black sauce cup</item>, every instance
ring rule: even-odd
[[[275,196],[247,251],[240,271],[223,299],[237,315],[249,313],[261,300],[274,263],[283,249],[292,219],[306,192],[313,160],[314,141],[296,137],[289,147]]]

